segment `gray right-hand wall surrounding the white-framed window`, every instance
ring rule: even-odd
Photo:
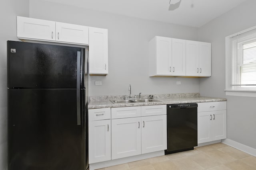
[[[238,7],[198,29],[199,41],[212,43],[212,77],[200,79],[202,96],[224,97],[227,102],[227,137],[256,149],[256,98],[226,96],[225,37],[256,25],[256,1]]]

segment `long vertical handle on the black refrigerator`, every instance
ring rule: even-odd
[[[80,109],[80,61],[81,51],[77,52],[77,77],[76,77],[76,116],[77,125],[81,125],[81,109]]]

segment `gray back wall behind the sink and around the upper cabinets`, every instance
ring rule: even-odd
[[[30,17],[108,29],[109,75],[90,76],[89,96],[199,92],[198,78],[150,78],[148,41],[155,35],[197,40],[197,28],[30,1]],[[95,86],[95,81],[102,86]],[[176,85],[181,81],[181,85]]]

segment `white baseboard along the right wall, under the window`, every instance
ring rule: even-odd
[[[236,141],[233,141],[231,139],[223,139],[222,143],[229,145],[230,147],[236,148],[238,150],[242,150],[243,152],[246,152],[248,154],[251,154],[252,156],[256,156],[256,149],[252,147],[248,147],[242,143],[238,143]]]

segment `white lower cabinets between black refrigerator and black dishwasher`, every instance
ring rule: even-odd
[[[89,164],[167,149],[166,105],[89,109],[88,114]]]

